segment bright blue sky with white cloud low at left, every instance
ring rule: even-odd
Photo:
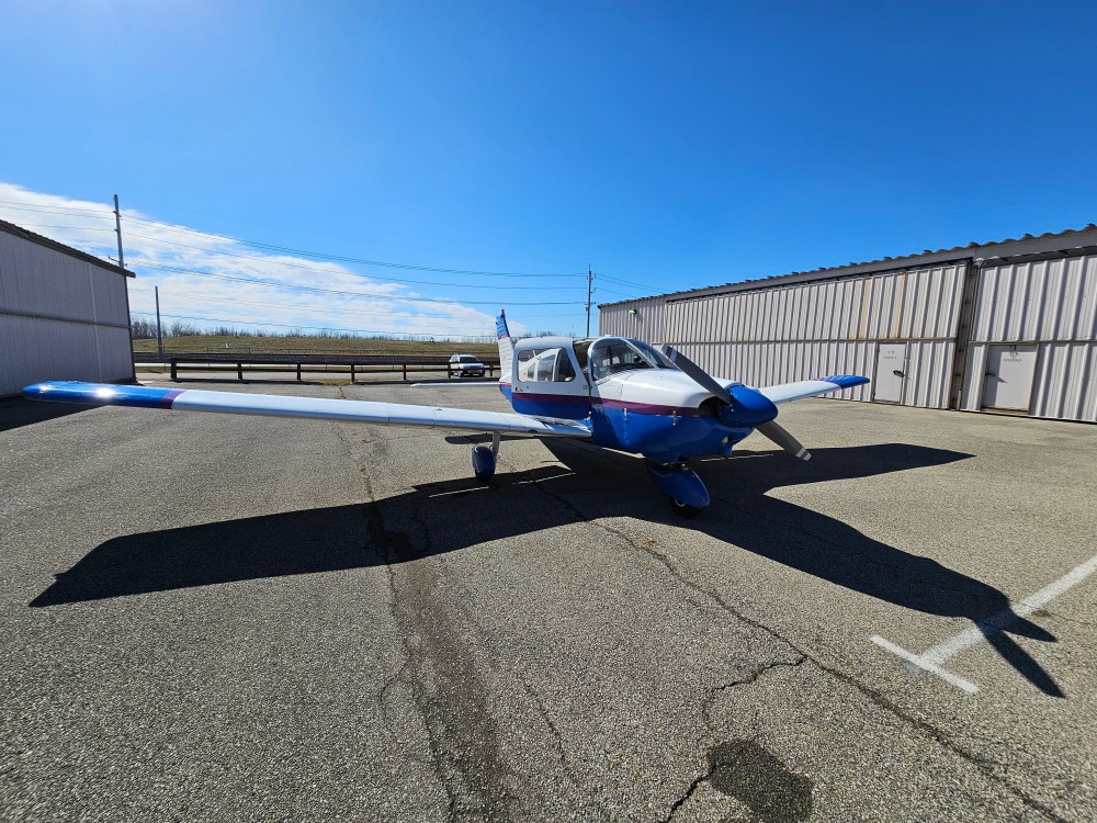
[[[1094,3],[0,12],[0,217],[105,253],[117,192],[139,309],[581,334],[588,264],[611,302],[1097,221]]]

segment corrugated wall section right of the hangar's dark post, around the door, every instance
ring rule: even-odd
[[[1097,422],[1097,256],[985,267],[962,408],[979,410],[992,346],[1037,343],[1029,414]]]

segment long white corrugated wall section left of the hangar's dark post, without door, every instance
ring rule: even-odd
[[[907,342],[903,404],[948,408],[964,263],[699,298],[607,307],[601,332],[669,342],[706,371],[751,385],[827,374],[872,377],[877,343]],[[646,326],[626,319],[630,308]],[[663,335],[649,334],[653,329]],[[872,386],[839,397],[868,401]]]

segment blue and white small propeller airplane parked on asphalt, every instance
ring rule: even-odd
[[[811,453],[777,422],[777,404],[868,383],[836,374],[819,380],[753,388],[710,376],[669,346],[656,349],[622,337],[533,337],[516,342],[506,312],[496,318],[498,385],[514,414],[372,401],[152,388],[54,381],[23,390],[34,401],[137,406],[237,415],[270,415],[459,429],[491,435],[474,446],[473,473],[495,475],[502,435],[577,438],[607,449],[642,454],[647,471],[671,503],[692,517],[709,506],[709,492],[687,466],[690,458],[730,455],[751,431],[808,460]]]

